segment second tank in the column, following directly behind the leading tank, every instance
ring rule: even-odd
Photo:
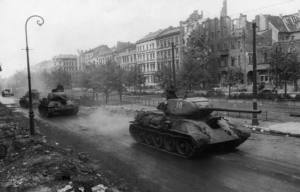
[[[76,115],[79,111],[78,103],[67,98],[64,88],[58,85],[48,94],[47,98],[40,100],[39,113],[45,117],[53,115]]]

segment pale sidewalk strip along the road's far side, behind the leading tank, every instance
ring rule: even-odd
[[[146,109],[150,111],[156,110],[156,107],[144,106],[138,104],[123,104],[122,106],[127,109],[135,109],[135,110],[141,110],[141,109]],[[248,127],[255,132],[300,137],[299,122],[277,123],[277,122],[270,122],[270,121],[259,121],[258,126],[252,126],[251,119],[240,119],[240,118],[233,118],[233,117],[226,117],[226,118],[231,120],[234,123]]]

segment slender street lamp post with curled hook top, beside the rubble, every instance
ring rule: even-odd
[[[32,96],[31,96],[31,77],[30,77],[30,65],[29,65],[29,48],[28,48],[28,37],[27,37],[27,23],[29,19],[33,17],[38,17],[41,19],[37,20],[37,24],[42,26],[44,24],[44,19],[41,16],[33,15],[29,17],[25,23],[25,35],[26,35],[26,53],[27,53],[27,72],[28,72],[28,89],[29,89],[29,122],[30,122],[30,134],[35,135],[34,129],[34,112],[32,110]]]

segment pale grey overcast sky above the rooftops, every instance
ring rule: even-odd
[[[0,0],[0,77],[26,68],[25,22],[28,22],[30,64],[59,54],[77,54],[101,44],[136,42],[149,32],[179,26],[194,11],[219,17],[223,0]],[[227,0],[231,18],[240,13],[252,21],[257,14],[297,13],[300,0]]]

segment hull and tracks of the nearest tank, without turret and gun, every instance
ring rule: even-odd
[[[224,122],[223,127],[216,128],[205,123],[205,119],[178,119],[160,112],[144,112],[140,116],[129,127],[137,142],[183,158],[198,156],[212,147],[234,149],[250,136],[247,130]],[[190,125],[192,127],[182,129]]]

